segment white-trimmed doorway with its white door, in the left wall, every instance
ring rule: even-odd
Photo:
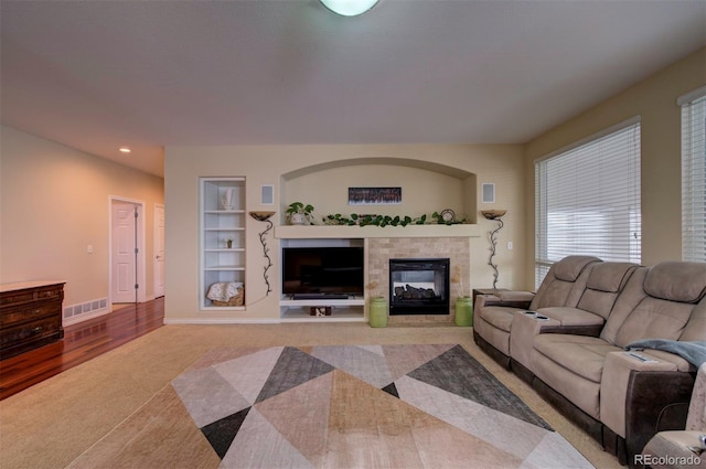
[[[145,288],[145,203],[110,198],[110,302],[143,302]]]

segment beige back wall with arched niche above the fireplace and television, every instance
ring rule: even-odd
[[[366,167],[361,164],[365,163]],[[308,169],[315,169],[315,171]],[[470,174],[470,175],[469,175]],[[312,204],[319,216],[328,213],[382,213],[418,216],[451,206],[475,220],[477,211],[507,209],[500,233],[499,287],[523,283],[524,174],[521,146],[261,146],[168,147],[165,154],[167,316],[168,321],[231,321],[279,318],[279,239],[270,236],[275,266],[269,270],[274,292],[265,295],[263,253],[258,232],[264,224],[247,218],[246,311],[199,311],[199,178],[246,178],[246,210],[272,210],[259,205],[261,184],[275,185],[276,224],[296,200]],[[475,184],[478,182],[478,184]],[[496,184],[496,202],[478,204],[482,182]],[[400,205],[347,205],[347,188],[355,185],[403,186]],[[466,194],[474,188],[472,196]],[[472,201],[470,200],[472,199]],[[484,218],[481,237],[472,239],[471,286],[492,285],[486,265],[485,234],[495,227]],[[379,228],[385,230],[385,228]],[[514,251],[505,246],[513,241]]]

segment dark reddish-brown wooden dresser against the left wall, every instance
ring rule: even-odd
[[[0,360],[64,337],[63,281],[0,285]]]

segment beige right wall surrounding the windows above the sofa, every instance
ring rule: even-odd
[[[642,263],[682,257],[681,110],[676,98],[706,84],[706,49],[557,126],[525,147],[526,285],[534,285],[534,160],[630,117],[641,117]]]

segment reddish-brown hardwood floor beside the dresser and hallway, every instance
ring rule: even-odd
[[[64,328],[64,339],[0,361],[0,401],[163,324],[164,298]]]

